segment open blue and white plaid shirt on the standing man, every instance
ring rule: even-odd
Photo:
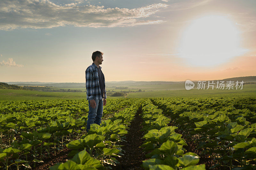
[[[100,70],[101,67],[99,66]],[[104,81],[104,97],[107,98],[106,94],[106,86],[105,86],[105,77],[103,75],[103,81]],[[101,91],[100,91],[100,83],[99,83],[99,75],[98,75],[98,69],[97,66],[92,63],[86,71],[85,71],[85,80],[86,80],[86,99],[88,101],[94,99],[94,100],[101,100]]]

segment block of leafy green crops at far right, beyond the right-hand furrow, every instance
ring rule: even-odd
[[[152,99],[217,169],[256,169],[256,100]]]

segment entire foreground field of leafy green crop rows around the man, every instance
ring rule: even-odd
[[[0,166],[255,169],[255,111],[246,95],[109,99],[86,133],[86,100],[1,100]]]

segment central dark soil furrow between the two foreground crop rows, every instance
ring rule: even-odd
[[[120,164],[112,166],[114,170],[138,170],[143,169],[140,167],[142,161],[146,159],[142,148],[139,148],[143,144],[144,139],[142,129],[142,118],[140,117],[141,107],[138,109],[133,121],[131,122],[128,133],[125,135],[127,142],[122,142],[124,145],[122,149],[125,151],[121,158],[117,158]]]

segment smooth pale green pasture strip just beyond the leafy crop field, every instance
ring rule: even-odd
[[[158,90],[157,88],[155,90]],[[108,94],[107,94],[108,95]],[[240,90],[161,90],[150,92],[129,93],[124,97],[115,98],[150,98],[150,97],[253,97],[256,98],[256,85],[244,85]],[[54,100],[54,99],[86,99],[85,92],[39,92],[29,90],[0,89],[0,100]]]

